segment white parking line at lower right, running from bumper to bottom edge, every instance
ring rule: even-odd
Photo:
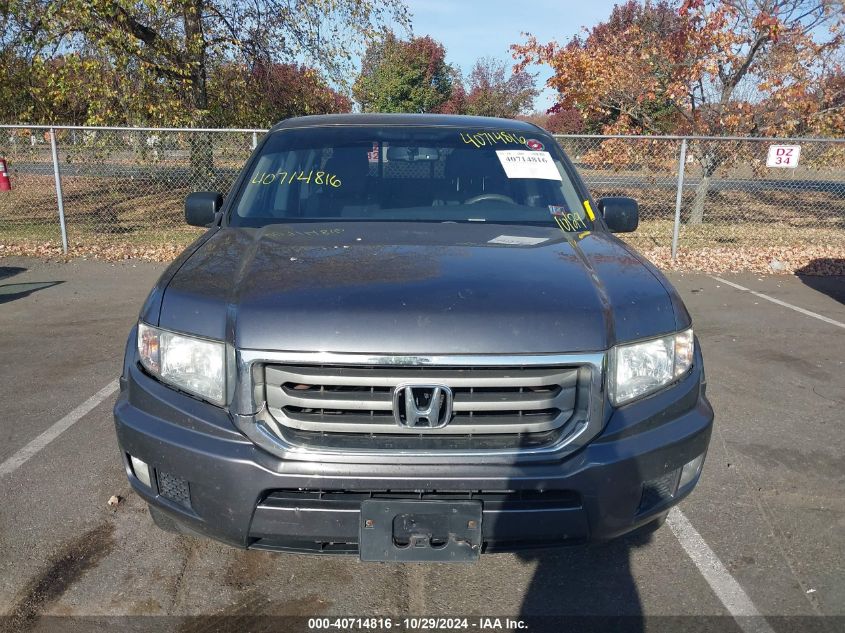
[[[701,534],[677,506],[669,512],[666,523],[739,627],[745,633],[774,633],[772,627],[751,602],[751,598],[739,586],[736,578],[731,576],[716,553],[710,549],[710,546],[701,538]]]

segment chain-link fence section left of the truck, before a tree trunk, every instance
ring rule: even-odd
[[[183,246],[201,233],[185,224],[185,196],[227,193],[263,133],[0,126],[11,182],[0,243]]]

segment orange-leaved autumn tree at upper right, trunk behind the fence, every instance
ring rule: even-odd
[[[629,0],[563,46],[529,36],[512,50],[517,68],[551,66],[558,105],[605,133],[841,136],[843,16],[840,0]],[[732,159],[719,148],[694,149],[690,223]]]

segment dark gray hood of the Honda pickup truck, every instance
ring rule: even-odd
[[[596,351],[690,321],[662,275],[604,232],[480,223],[224,228],[174,268],[154,291],[160,305],[148,302],[142,318],[242,349]]]

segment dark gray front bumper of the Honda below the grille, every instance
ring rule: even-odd
[[[706,453],[713,423],[697,361],[674,386],[612,411],[587,446],[539,463],[284,460],[224,410],[130,363],[114,416],[136,492],[184,529],[236,547],[355,553],[361,501],[374,497],[477,499],[485,550],[546,547],[614,538],[689,494],[698,475],[674,489],[672,473]],[[150,465],[151,487],[128,455]]]

